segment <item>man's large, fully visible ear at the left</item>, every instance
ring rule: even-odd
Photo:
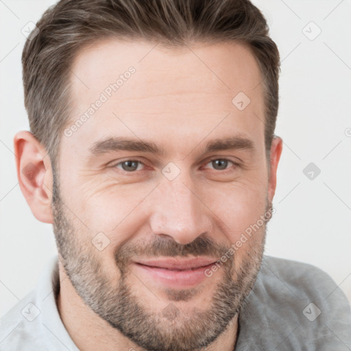
[[[32,133],[22,131],[14,136],[14,154],[19,186],[34,217],[53,223],[52,169],[46,149]]]

